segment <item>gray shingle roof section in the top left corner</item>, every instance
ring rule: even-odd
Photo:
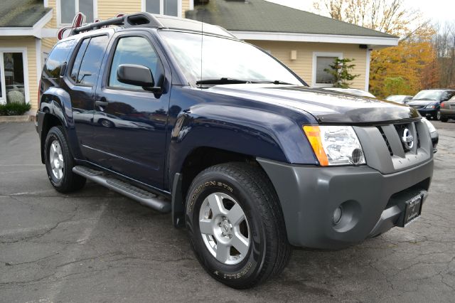
[[[43,0],[1,0],[0,27],[33,27],[48,11]]]

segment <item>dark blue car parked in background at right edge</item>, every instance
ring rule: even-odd
[[[421,90],[407,105],[417,109],[423,117],[441,119],[441,102],[455,95],[455,90]]]

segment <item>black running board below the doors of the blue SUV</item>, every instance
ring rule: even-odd
[[[112,189],[112,191],[117,191],[117,193],[132,198],[142,205],[153,208],[161,213],[168,213],[171,211],[171,203],[165,201],[163,198],[122,180],[106,176],[102,171],[96,171],[95,169],[90,169],[86,166],[74,166],[73,173]]]

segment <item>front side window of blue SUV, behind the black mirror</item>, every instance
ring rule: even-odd
[[[161,76],[161,62],[153,46],[146,38],[143,37],[124,37],[119,38],[115,48],[114,58],[112,58],[111,69],[109,73],[109,87],[123,88],[127,90],[144,90],[144,88],[121,83],[117,80],[117,70],[122,64],[144,65],[151,70],[155,82]]]

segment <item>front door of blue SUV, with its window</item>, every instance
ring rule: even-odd
[[[120,83],[117,69],[121,64],[144,65],[158,81],[164,78],[163,65],[146,35],[117,34],[110,49],[95,95],[94,161],[161,188],[169,94],[154,94],[143,87]]]

